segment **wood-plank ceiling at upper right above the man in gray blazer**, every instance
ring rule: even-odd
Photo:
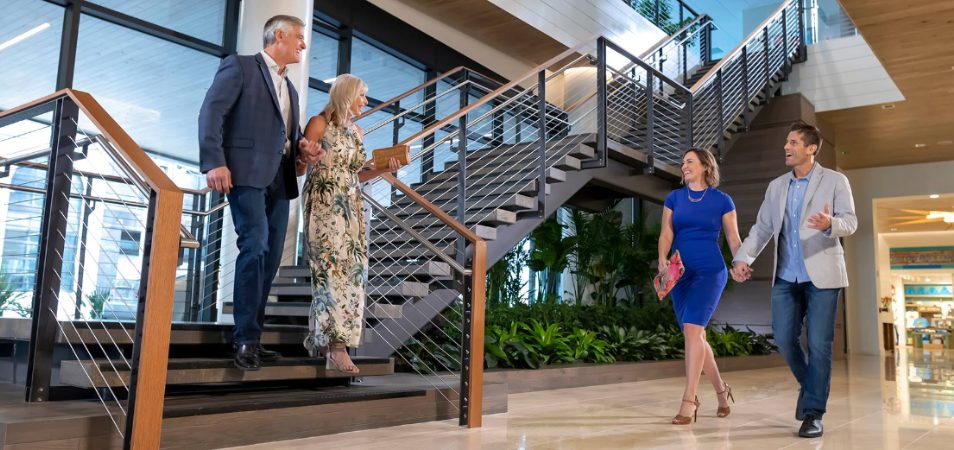
[[[838,165],[954,159],[954,145],[943,143],[954,140],[954,0],[841,4],[906,100],[820,113],[835,129]]]

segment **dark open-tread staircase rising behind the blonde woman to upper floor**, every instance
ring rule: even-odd
[[[734,142],[734,136],[744,131],[760,108],[777,93],[779,83],[797,57],[795,43],[798,33],[789,33],[785,42],[792,45],[787,49],[771,48],[771,39],[778,41],[781,38],[783,18],[787,25],[797,22],[796,14],[792,13],[796,10],[797,3],[788,2],[776,13],[774,21],[767,21],[771,36],[767,42],[768,54],[775,58],[770,66],[764,65],[766,59],[757,51],[757,47],[765,46],[766,42],[760,40],[760,34],[753,33],[740,49],[746,48],[750,56],[761,58],[757,60],[758,64],[750,58],[748,66],[741,65],[737,56],[739,50],[724,61],[699,64],[688,74],[685,84],[671,82],[665,74],[648,64],[643,66],[635,59],[616,69],[609,67],[608,73],[615,76],[606,81],[605,147],[601,146],[598,129],[587,132],[586,127],[581,126],[588,120],[598,121],[597,102],[593,98],[598,94],[596,86],[593,86],[593,92],[589,92],[589,99],[580,94],[565,99],[563,103],[545,103],[545,158],[540,153],[539,138],[531,136],[501,142],[491,126],[495,115],[508,114],[519,108],[528,118],[522,120],[525,128],[539,122],[533,119],[540,112],[536,107],[540,104],[539,83],[522,90],[517,87],[518,83],[526,85],[536,74],[516,80],[507,86],[506,94],[488,94],[488,98],[481,99],[486,100],[482,103],[484,105],[496,105],[489,111],[483,110],[478,115],[473,112],[475,109],[467,110],[440,121],[435,128],[453,125],[455,130],[460,130],[463,125],[469,135],[488,137],[494,134],[492,138],[468,143],[464,161],[459,160],[457,152],[443,169],[422,171],[419,178],[412,178],[407,184],[485,239],[488,265],[496,262],[545,217],[588,184],[619,186],[621,179],[650,177],[657,180],[661,192],[668,192],[681,176],[677,165],[682,151],[689,146],[690,123],[693,126],[693,145],[711,148],[724,156],[727,147]],[[702,36],[699,34],[700,39]],[[613,53],[611,47],[607,51]],[[563,69],[548,72],[549,79],[568,74],[568,68],[587,67],[586,62],[566,64],[565,61],[571,59],[572,54],[586,54],[587,50],[590,54],[597,53],[593,51],[596,50],[593,45],[555,58]],[[617,53],[615,56],[623,55],[621,50]],[[779,59],[782,56],[784,59]],[[557,64],[548,69],[555,66]],[[713,69],[721,72],[716,73]],[[748,74],[746,82],[740,80],[744,72]],[[652,86],[647,86],[645,81],[650,74],[655,81]],[[707,82],[696,91],[688,91],[687,86],[694,86],[703,78],[708,78]],[[722,104],[714,95],[719,84],[723,84],[720,86],[723,88],[721,99],[718,99]],[[550,89],[551,83],[544,87]],[[689,120],[687,111],[690,101],[693,103],[692,120]],[[462,108],[468,106],[461,105]],[[587,107],[592,109],[581,114],[580,111],[586,111]],[[458,123],[461,118],[466,118],[467,123]],[[433,124],[425,124],[428,125]],[[436,131],[428,133],[425,130],[411,142],[423,141],[429,136],[434,141],[440,140]],[[459,141],[455,145],[460,147]],[[425,148],[419,158],[426,160],[439,150],[439,144],[434,145],[430,152]],[[470,254],[468,248],[459,245],[458,233],[444,226],[420,204],[391,189],[387,183],[376,184],[368,198],[375,199],[381,206],[386,205],[394,219],[407,228],[396,227],[390,219],[378,220],[380,215],[372,212],[368,320],[364,343],[358,354],[387,357],[393,356],[396,349],[459,298],[449,265],[428,256],[428,250],[408,230],[425,237],[448,258],[463,261]],[[310,294],[308,270],[283,267],[279,276],[281,282],[272,292],[278,302],[270,306],[268,312],[306,316]],[[413,288],[408,288],[408,283],[413,283],[410,285]],[[386,309],[382,311],[382,308]]]

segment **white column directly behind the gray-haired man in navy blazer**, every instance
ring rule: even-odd
[[[262,51],[262,34],[265,28],[265,22],[268,19],[286,14],[298,17],[305,22],[302,29],[305,35],[305,44],[311,46],[311,24],[314,17],[314,2],[310,0],[245,0],[241,2],[242,10],[239,13],[239,31],[237,51],[240,55],[251,55]],[[295,85],[298,91],[298,112],[301,117],[303,128],[308,122],[305,111],[308,105],[308,62],[310,61],[310,49],[302,52],[301,62],[288,66],[288,79]],[[329,58],[337,58],[338,55],[327,55]],[[298,179],[298,187],[301,189],[304,183],[304,177]],[[288,228],[285,237],[285,249],[282,255],[282,265],[295,263],[296,243],[298,238],[298,223],[301,218],[300,198],[291,201],[289,205]],[[235,246],[235,227],[232,224],[232,215],[228,208],[225,211],[224,221],[222,223],[222,260],[221,272],[219,275],[219,300],[218,309],[220,311],[220,320],[231,320],[231,315],[223,317],[222,302],[232,299],[232,286],[235,278],[235,258],[238,256],[238,248]]]

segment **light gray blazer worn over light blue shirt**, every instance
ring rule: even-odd
[[[802,223],[799,238],[805,267],[812,283],[819,289],[834,289],[848,286],[848,271],[845,269],[845,249],[838,238],[850,236],[858,228],[855,217],[855,201],[851,197],[848,178],[834,170],[816,163],[815,171],[808,182],[808,193],[802,203]],[[751,265],[762,253],[770,239],[775,240],[772,263],[772,283],[778,271],[778,240],[788,201],[788,184],[791,172],[772,180],[765,191],[765,200],[759,208],[758,219],[748,237],[736,253],[733,262]],[[822,211],[828,203],[831,208],[831,229],[825,232],[808,228],[807,220],[812,214]]]

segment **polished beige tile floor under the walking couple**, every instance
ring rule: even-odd
[[[480,429],[456,420],[261,444],[245,449],[940,449],[954,447],[954,352],[836,361],[825,436],[801,439],[788,369],[728,372],[737,403],[715,416],[699,389],[698,422],[669,423],[680,378],[513,394]]]

